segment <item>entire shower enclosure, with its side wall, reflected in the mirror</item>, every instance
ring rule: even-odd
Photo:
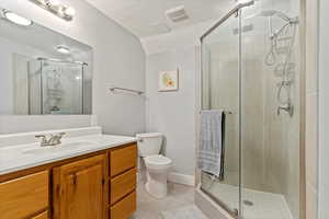
[[[29,114],[83,114],[87,64],[38,58],[29,62]]]

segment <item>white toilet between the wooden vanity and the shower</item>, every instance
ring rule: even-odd
[[[146,191],[156,198],[167,196],[167,176],[172,161],[160,155],[162,135],[158,132],[136,135],[138,154],[146,165],[147,182]]]

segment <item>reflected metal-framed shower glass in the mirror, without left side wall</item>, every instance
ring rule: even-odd
[[[83,114],[83,66],[43,60],[43,114]]]

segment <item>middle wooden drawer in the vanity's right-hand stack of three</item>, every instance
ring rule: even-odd
[[[136,188],[136,169],[111,180],[111,205],[132,193]]]

